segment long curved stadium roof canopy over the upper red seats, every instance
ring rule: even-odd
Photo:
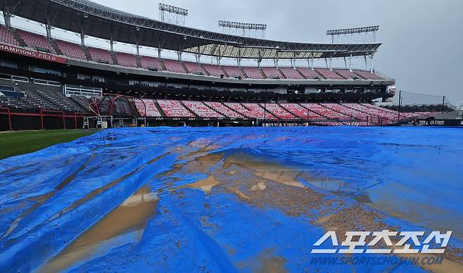
[[[225,58],[370,56],[374,44],[308,44],[255,39],[172,25],[87,0],[1,0],[12,15],[91,37]],[[136,3],[134,3],[136,4]]]

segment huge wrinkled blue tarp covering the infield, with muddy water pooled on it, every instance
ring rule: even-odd
[[[317,215],[339,208],[291,213],[285,196],[272,201],[266,181],[298,172],[297,183],[324,205],[361,203],[407,231],[452,230],[452,247],[462,248],[462,142],[463,130],[450,128],[107,129],[0,161],[0,269],[421,272],[311,264],[326,232]],[[264,179],[255,184],[264,195],[225,183],[227,162],[237,166],[229,177],[252,170],[236,183]],[[262,174],[265,164],[277,174]],[[281,192],[298,196],[298,184]]]

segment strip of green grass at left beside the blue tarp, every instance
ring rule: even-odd
[[[39,151],[55,144],[88,136],[94,132],[96,130],[46,130],[1,133],[0,159]]]

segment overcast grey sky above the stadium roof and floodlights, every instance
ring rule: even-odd
[[[159,1],[94,1],[159,18]],[[395,78],[398,89],[446,95],[453,103],[463,101],[461,84],[457,84],[463,77],[462,0],[165,0],[163,3],[189,9],[186,18],[189,27],[221,31],[217,20],[265,23],[267,39],[293,42],[329,42],[326,30],[380,25],[377,40],[383,45],[374,56],[376,70]],[[355,65],[364,68],[364,61],[359,60]]]

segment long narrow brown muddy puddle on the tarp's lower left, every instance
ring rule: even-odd
[[[46,263],[39,272],[58,272],[104,255],[110,249],[140,240],[146,220],[156,212],[158,197],[144,186],[122,204],[90,227],[61,253]]]

